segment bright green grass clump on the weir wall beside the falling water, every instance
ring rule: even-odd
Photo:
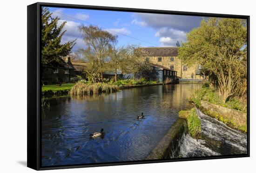
[[[196,114],[195,108],[191,110],[181,110],[179,117],[187,120],[189,135],[195,139],[201,138],[201,120]]]

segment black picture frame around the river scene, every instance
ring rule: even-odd
[[[94,163],[82,165],[65,165],[65,166],[50,166],[42,167],[40,158],[40,114],[41,114],[41,85],[40,85],[40,31],[41,31],[41,7],[65,7],[65,8],[79,8],[79,9],[94,9],[94,10],[111,10],[124,12],[140,12],[140,13],[160,13],[160,14],[179,14],[190,16],[205,16],[205,17],[223,17],[223,18],[239,18],[247,19],[247,45],[248,45],[248,63],[247,63],[247,154],[239,155],[224,155],[224,156],[207,156],[194,158],[179,158],[166,160],[142,160],[142,161],[123,161],[110,163]],[[49,170],[49,169],[64,169],[64,168],[80,168],[80,167],[101,167],[101,166],[115,166],[115,165],[132,165],[145,163],[159,163],[172,161],[187,161],[187,160],[209,160],[209,159],[224,159],[224,158],[238,158],[249,157],[250,154],[250,139],[249,139],[249,28],[250,17],[246,15],[230,15],[230,14],[214,14],[214,13],[195,13],[195,12],[178,12],[165,10],[151,10],[151,9],[136,9],[136,8],[121,8],[108,6],[86,6],[73,4],[56,4],[56,3],[35,3],[27,6],[27,167],[35,170]]]

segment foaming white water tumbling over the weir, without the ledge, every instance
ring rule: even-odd
[[[178,157],[200,157],[247,153],[247,135],[196,109],[202,123],[202,139],[183,134]],[[171,158],[173,158],[171,156]]]

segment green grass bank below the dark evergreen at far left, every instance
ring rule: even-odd
[[[42,95],[64,95],[75,85],[75,83],[63,83],[61,86],[53,85],[43,85]]]

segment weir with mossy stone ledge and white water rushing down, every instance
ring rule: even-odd
[[[229,128],[199,109],[196,113],[201,119],[201,139],[192,138],[188,134],[187,121],[179,118],[146,159],[247,154],[247,134]]]

